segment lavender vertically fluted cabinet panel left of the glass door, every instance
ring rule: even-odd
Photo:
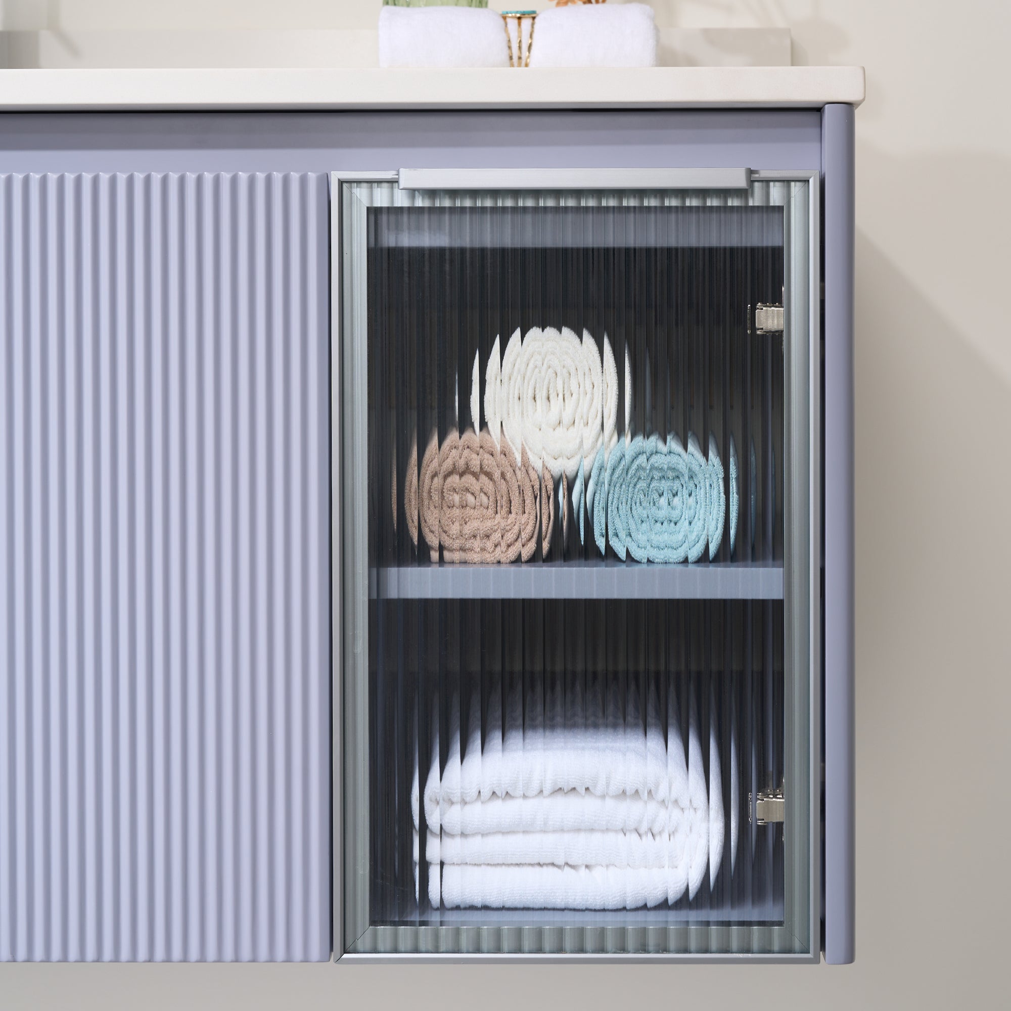
[[[0,175],[0,960],[330,955],[328,201]]]

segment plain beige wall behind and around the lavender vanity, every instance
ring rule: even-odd
[[[376,6],[6,0],[3,23],[368,25]],[[656,7],[669,25],[789,25],[795,62],[867,69],[856,115],[855,966],[0,967],[0,1008],[1008,1006],[1011,4]]]

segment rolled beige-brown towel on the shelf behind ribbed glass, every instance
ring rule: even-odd
[[[551,550],[554,482],[539,474],[526,451],[519,461],[499,448],[486,430],[452,429],[442,446],[429,439],[421,470],[417,443],[404,481],[404,511],[410,539],[419,533],[433,562],[471,564],[530,561],[537,550],[538,526],[544,552]]]

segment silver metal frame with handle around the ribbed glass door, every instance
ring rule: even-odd
[[[784,707],[785,753],[784,772],[787,810],[785,823],[786,879],[785,910],[797,919],[783,926],[766,928],[770,933],[768,950],[728,952],[634,952],[634,953],[417,953],[383,951],[346,954],[346,945],[356,938],[346,937],[344,877],[347,872],[345,832],[348,807],[355,807],[356,798],[365,793],[367,801],[367,763],[358,764],[353,783],[346,782],[346,746],[367,740],[367,691],[362,701],[356,695],[361,678],[368,676],[368,559],[366,538],[352,538],[354,554],[346,550],[346,524],[362,518],[349,516],[345,499],[345,474],[349,470],[357,482],[367,482],[366,454],[359,449],[357,458],[349,458],[353,450],[352,433],[366,424],[365,398],[355,402],[343,396],[346,370],[361,370],[360,388],[364,387],[366,369],[364,347],[366,328],[365,269],[353,263],[364,249],[365,203],[353,192],[354,184],[398,183],[402,189],[439,190],[675,190],[675,189],[747,189],[751,182],[782,183],[789,188],[784,199],[784,332],[785,363],[788,370],[786,390],[789,393],[784,416]],[[791,186],[791,184],[796,184]],[[813,962],[820,960],[821,921],[821,567],[822,567],[822,463],[821,463],[821,397],[822,397],[822,328],[821,328],[821,199],[818,171],[749,171],[747,169],[418,169],[375,172],[342,172],[331,175],[331,454],[332,454],[332,651],[333,651],[333,949],[335,959],[353,961],[495,961],[499,959],[538,962],[598,960],[598,961],[706,961],[706,962]],[[348,231],[361,242],[345,242]],[[798,264],[807,261],[803,275]],[[354,292],[347,292],[349,279],[354,278]],[[803,283],[799,283],[803,280]],[[804,327],[798,323],[804,320]],[[799,340],[795,333],[803,330]],[[356,482],[356,483],[357,483]],[[352,510],[353,512],[353,510]],[[798,616],[806,620],[798,622]],[[362,629],[366,629],[364,642]],[[806,673],[806,676],[799,676]],[[356,741],[346,740],[345,720],[358,720]],[[795,726],[806,718],[809,733],[800,739]],[[360,799],[359,799],[360,800]],[[750,799],[754,810],[754,798]],[[359,819],[361,820],[361,819]],[[742,832],[744,831],[742,826]],[[356,831],[367,833],[368,825]],[[801,832],[803,836],[796,838]],[[806,846],[807,860],[792,855],[794,847]],[[365,847],[367,849],[367,846]],[[799,909],[792,904],[792,895],[803,895],[809,902]],[[364,892],[365,899],[361,894]],[[364,901],[367,914],[367,891],[359,890],[359,903]],[[799,929],[798,929],[799,928]],[[369,927],[370,930],[380,928]],[[382,928],[397,929],[397,928]],[[731,937],[738,928],[731,926]],[[771,935],[785,932],[778,941]],[[793,948],[793,949],[791,949]]]

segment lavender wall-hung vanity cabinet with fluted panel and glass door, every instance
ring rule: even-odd
[[[858,100],[0,114],[0,959],[852,960]]]

